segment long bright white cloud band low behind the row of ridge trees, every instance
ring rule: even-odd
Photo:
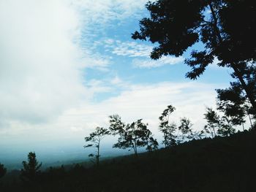
[[[94,81],[92,85],[101,85]],[[138,118],[149,123],[154,134],[157,131],[158,117],[167,105],[176,107],[172,120],[178,122],[179,118],[187,117],[192,120],[196,129],[203,128],[203,113],[206,106],[214,106],[216,93],[214,88],[219,85],[206,85],[198,82],[162,82],[153,85],[129,85],[121,94],[113,96],[99,103],[84,103],[78,107],[66,110],[55,123],[37,125],[20,125],[13,123],[5,131],[6,134],[41,135],[40,139],[55,138],[57,140],[81,139],[95,127],[108,127],[108,115],[118,114],[124,121],[131,122]],[[22,127],[26,128],[22,128]],[[20,131],[18,131],[20,129]],[[15,131],[12,131],[15,130]],[[49,131],[48,131],[49,130]],[[28,136],[27,136],[28,137]],[[34,137],[31,137],[34,138]]]

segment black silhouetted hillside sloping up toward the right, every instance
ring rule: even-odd
[[[29,180],[12,172],[1,179],[0,191],[255,191],[255,151],[256,131],[244,131],[99,166],[49,168]]]

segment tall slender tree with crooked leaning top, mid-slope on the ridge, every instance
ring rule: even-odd
[[[177,126],[176,123],[169,122],[170,115],[174,112],[174,110],[176,110],[175,107],[173,107],[172,105],[168,105],[159,117],[159,131],[164,134],[164,140],[162,141],[162,144],[164,144],[165,147],[176,145],[175,132],[177,130]]]

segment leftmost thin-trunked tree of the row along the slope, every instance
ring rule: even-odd
[[[106,136],[110,134],[110,131],[108,131],[107,128],[103,128],[103,127],[97,127],[95,128],[95,131],[92,132],[89,137],[85,137],[84,139],[86,140],[86,142],[92,142],[92,144],[89,145],[84,145],[83,147],[96,147],[97,148],[97,152],[96,154],[89,154],[89,157],[95,158],[96,160],[96,164],[97,166],[99,166],[99,146],[100,146],[100,142],[102,141],[102,139]]]

